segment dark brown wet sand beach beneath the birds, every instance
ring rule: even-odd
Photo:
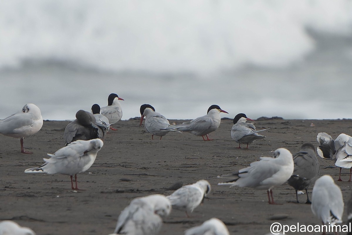
[[[183,120],[170,120],[170,123]],[[257,129],[271,128],[261,134],[264,140],[250,144],[249,149],[237,149],[231,139],[232,120],[222,120],[220,128],[209,134],[214,141],[189,133],[170,132],[159,140],[151,140],[139,119],[122,120],[109,131],[104,146],[93,166],[78,175],[78,187],[70,188],[68,175],[25,174],[24,170],[43,163],[46,153],[54,153],[64,146],[62,138],[67,121],[44,121],[43,128],[24,140],[26,150],[20,153],[20,141],[0,135],[0,220],[10,219],[32,228],[38,235],[107,235],[114,231],[122,209],[136,197],[154,193],[164,195],[173,191],[175,183],[184,185],[206,179],[212,186],[209,199],[197,207],[190,218],[183,211],[173,210],[165,219],[160,234],[179,235],[187,228],[200,225],[212,217],[221,219],[230,234],[266,234],[270,225],[320,224],[304,204],[306,195],[300,195],[301,204],[295,203],[295,191],[289,185],[274,188],[274,199],[282,205],[269,205],[266,191],[252,188],[218,186],[217,175],[237,172],[260,156],[271,156],[277,148],[295,153],[305,142],[315,147],[316,135],[327,132],[333,138],[350,133],[352,120],[256,120]],[[245,145],[243,146],[245,147]],[[320,159],[320,175],[330,174],[338,179],[338,168],[326,168],[332,162]],[[348,169],[342,169],[341,187],[346,204],[351,197],[347,182]],[[309,188],[311,197],[313,185]],[[298,234],[298,233],[289,233]],[[302,233],[299,233],[302,234]],[[315,234],[315,233],[306,233]]]

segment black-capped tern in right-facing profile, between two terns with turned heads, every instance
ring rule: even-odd
[[[166,129],[176,129],[179,131],[187,131],[192,135],[202,136],[204,141],[209,141],[208,134],[210,132],[216,131],[221,122],[220,113],[228,113],[218,105],[212,105],[209,107],[207,115],[191,120],[190,122],[184,122],[179,125],[172,125],[170,128]],[[204,138],[207,136],[207,139]]]

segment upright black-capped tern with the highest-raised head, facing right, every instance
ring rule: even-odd
[[[117,123],[122,117],[122,108],[119,100],[124,100],[120,98],[117,94],[111,93],[108,97],[108,106],[101,107],[101,114],[108,118],[109,124]],[[111,130],[117,130],[110,127]]]

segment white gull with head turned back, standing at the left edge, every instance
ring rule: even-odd
[[[2,135],[20,138],[21,153],[32,154],[23,148],[23,139],[36,134],[43,126],[43,117],[35,104],[26,104],[22,110],[0,120]]]

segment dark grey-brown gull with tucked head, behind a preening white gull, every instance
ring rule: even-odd
[[[65,145],[76,140],[92,140],[95,138],[104,138],[106,128],[104,125],[96,123],[92,113],[78,110],[76,119],[70,122],[64,131]]]

